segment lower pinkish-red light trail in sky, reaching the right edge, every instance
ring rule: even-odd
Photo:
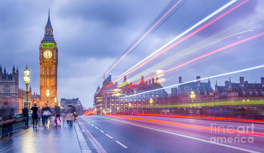
[[[222,47],[222,48],[220,48],[220,49],[216,49],[216,50],[214,50],[214,51],[211,51],[211,52],[209,52],[209,53],[207,53],[207,54],[204,54],[204,55],[202,55],[202,56],[199,56],[199,57],[197,57],[197,58],[194,58],[194,59],[192,59],[192,60],[190,60],[190,61],[187,61],[187,62],[185,62],[185,63],[182,63],[182,64],[180,64],[180,65],[178,65],[178,66],[176,66],[176,67],[174,67],[174,68],[171,68],[171,69],[169,69],[169,70],[163,71],[163,72],[158,73],[158,74],[156,74],[156,75],[153,75],[153,76],[151,76],[151,77],[148,77],[148,78],[146,78],[146,79],[144,79],[144,80],[148,80],[148,79],[153,78],[153,77],[155,77],[155,76],[157,76],[157,75],[161,75],[161,74],[167,73],[167,72],[169,72],[169,71],[175,70],[175,69],[180,68],[180,67],[182,67],[182,66],[185,66],[185,65],[187,65],[187,64],[189,64],[189,63],[192,63],[192,62],[194,62],[194,61],[196,61],[196,60],[198,60],[198,59],[202,59],[202,58],[204,58],[204,57],[206,57],[206,56],[209,56],[209,55],[211,55],[211,54],[217,53],[217,52],[222,51],[222,50],[224,50],[224,49],[227,49],[227,48],[229,48],[229,47],[235,46],[235,45],[240,44],[240,43],[242,43],[242,42],[246,42],[246,41],[248,41],[248,40],[250,40],[250,39],[253,39],[253,38],[259,37],[259,36],[261,36],[261,35],[264,35],[264,32],[261,32],[261,33],[259,33],[259,34],[257,34],[257,35],[254,35],[254,36],[248,37],[248,38],[246,38],[246,39],[240,40],[240,41],[235,42],[235,43],[233,43],[233,44],[229,44],[229,45],[227,45],[227,46],[225,46],[225,47]],[[136,84],[138,84],[138,83],[139,83],[139,82],[137,82]],[[129,86],[133,86],[133,85],[129,85]]]

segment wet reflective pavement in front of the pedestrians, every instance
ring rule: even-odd
[[[61,127],[52,124],[38,124],[13,133],[13,137],[0,140],[0,152],[82,152],[75,126],[62,123]]]

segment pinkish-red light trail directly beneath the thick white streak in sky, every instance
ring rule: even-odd
[[[159,56],[160,54],[164,53],[165,51],[171,49],[172,47],[174,47],[175,45],[179,44],[180,42],[184,41],[185,39],[191,37],[192,35],[196,34],[197,32],[203,30],[204,28],[208,27],[209,25],[211,25],[212,23],[216,22],[217,20],[219,20],[220,18],[224,17],[226,14],[230,13],[231,11],[233,11],[234,9],[238,8],[239,6],[241,6],[242,4],[246,3],[249,0],[246,0],[244,2],[242,2],[241,4],[233,7],[232,9],[230,9],[229,11],[227,11],[226,13],[223,13],[221,16],[215,18],[214,20],[211,20],[209,23],[207,23],[206,25],[200,27],[199,29],[195,30],[194,32],[190,33],[189,35],[185,36],[184,38],[178,40],[177,42],[171,44],[169,47],[163,49],[162,51],[158,52],[157,54],[153,55],[152,57],[150,57],[149,59],[147,59],[146,61],[144,61],[143,63],[141,63],[139,66],[137,66],[136,68],[132,69],[131,71],[128,71],[126,74],[124,75],[128,75],[130,73],[132,73],[133,71],[136,71],[138,68],[140,68],[141,66],[145,65],[146,63],[148,63],[149,61],[151,61],[152,59],[156,58],[157,56]],[[162,73],[161,73],[162,74]],[[155,76],[155,75],[154,75]],[[120,80],[122,77],[116,79],[114,82],[117,82],[118,80]],[[152,78],[152,77],[150,77]],[[149,78],[148,78],[149,79]],[[147,79],[145,79],[147,80]],[[139,83],[139,82],[138,82]],[[109,87],[110,85],[112,85],[114,83],[111,83],[109,85],[107,85],[107,87]],[[137,84],[137,83],[136,83]]]

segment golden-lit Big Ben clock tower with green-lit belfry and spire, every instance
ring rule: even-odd
[[[47,104],[46,90],[49,89],[49,105],[51,106],[54,105],[54,98],[57,97],[58,48],[50,23],[50,10],[44,37],[39,46],[39,63],[41,105]]]

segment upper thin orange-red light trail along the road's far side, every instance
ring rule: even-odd
[[[226,118],[226,117],[209,117],[209,116],[181,116],[181,115],[141,114],[141,113],[134,113],[134,114],[135,115],[143,115],[143,116],[168,116],[168,117],[181,117],[181,118],[210,118],[210,119],[233,120],[233,121],[264,122],[263,120],[252,120],[252,119],[243,119],[243,118]]]

